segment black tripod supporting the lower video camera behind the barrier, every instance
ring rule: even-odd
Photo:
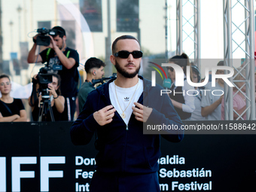
[[[38,113],[38,121],[41,122],[42,120],[47,120],[47,112],[50,112],[50,119],[51,121],[55,121],[53,117],[53,109],[50,105],[50,96],[41,96],[40,108]]]

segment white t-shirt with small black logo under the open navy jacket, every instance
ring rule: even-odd
[[[117,94],[115,93],[115,88],[117,90]],[[136,89],[137,88],[137,89]],[[134,93],[135,92],[135,93]],[[130,117],[133,113],[132,107],[134,106],[134,102],[138,102],[139,97],[142,95],[143,92],[143,81],[139,79],[139,84],[137,84],[130,88],[122,88],[114,85],[114,81],[109,84],[109,97],[111,101],[111,105],[117,110],[117,113],[121,114],[124,111],[125,118],[123,118],[124,123],[128,125]],[[133,95],[134,93],[134,95]],[[118,99],[118,101],[117,101]],[[132,99],[132,100],[131,100]],[[119,102],[119,104],[118,104]],[[121,108],[120,108],[121,107]]]

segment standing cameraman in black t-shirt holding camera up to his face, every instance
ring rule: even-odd
[[[35,55],[38,36],[33,37],[34,45],[29,51],[28,62],[47,62],[51,65],[62,66],[62,70],[58,71],[58,75],[62,79],[60,90],[62,96],[65,97],[65,111],[62,114],[62,120],[73,120],[75,114],[75,99],[78,93],[78,66],[79,55],[76,50],[66,47],[66,32],[60,26],[55,26],[51,31],[54,35],[49,35],[50,44],[46,50]],[[50,33],[51,34],[51,33]],[[45,36],[43,36],[45,37]]]

